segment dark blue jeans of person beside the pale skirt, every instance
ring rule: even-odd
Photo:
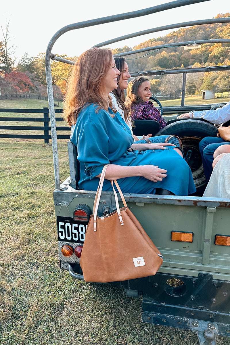
[[[208,182],[212,173],[213,153],[221,145],[230,144],[218,137],[206,137],[199,143],[199,149],[204,167],[204,175]]]

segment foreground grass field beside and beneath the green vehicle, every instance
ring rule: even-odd
[[[63,180],[67,144],[58,147]],[[0,344],[198,344],[189,331],[141,323],[141,299],[59,270],[53,188],[50,145],[0,139]]]

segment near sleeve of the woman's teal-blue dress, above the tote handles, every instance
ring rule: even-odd
[[[78,137],[78,160],[84,162],[84,173],[93,179],[109,164],[109,137],[101,124],[86,122]]]

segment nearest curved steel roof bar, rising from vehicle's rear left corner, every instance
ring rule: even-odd
[[[53,149],[53,165],[54,165],[54,178],[55,178],[55,189],[60,190],[60,177],[59,177],[59,164],[58,164],[58,144],[57,144],[57,132],[56,132],[56,120],[55,120],[55,110],[54,110],[54,100],[53,100],[53,87],[52,87],[52,75],[51,75],[51,65],[50,65],[50,54],[51,49],[57,39],[64,33],[80,29],[86,28],[94,25],[110,23],[114,21],[136,18],[146,16],[147,14],[157,13],[165,10],[169,10],[172,8],[177,8],[181,6],[190,5],[193,3],[205,2],[210,0],[177,0],[171,1],[168,3],[164,3],[158,6],[146,8],[143,10],[127,12],[122,14],[117,14],[115,16],[108,16],[103,18],[97,18],[92,20],[87,20],[79,23],[69,24],[59,31],[57,31],[51,40],[48,43],[46,49],[46,58],[45,58],[45,66],[46,66],[46,81],[47,81],[47,93],[48,93],[48,102],[49,102],[49,111],[50,111],[50,127],[51,127],[51,137],[52,137],[52,149]]]

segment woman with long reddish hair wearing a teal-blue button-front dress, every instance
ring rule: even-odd
[[[79,56],[67,83],[64,118],[78,148],[79,188],[96,190],[103,166],[110,164],[103,190],[112,190],[109,180],[118,179],[123,193],[155,194],[156,188],[194,193],[191,170],[177,148],[133,144],[126,122],[111,109],[109,93],[119,75],[110,50],[91,48]]]

